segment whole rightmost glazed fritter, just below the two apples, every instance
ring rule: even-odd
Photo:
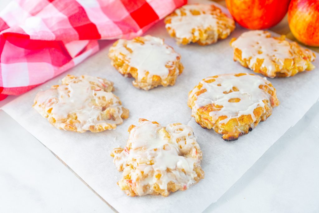
[[[264,76],[290,77],[315,68],[311,63],[315,54],[296,42],[288,42],[285,35],[271,37],[267,31],[248,31],[230,42],[234,61]]]

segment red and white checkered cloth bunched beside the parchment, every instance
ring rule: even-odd
[[[98,39],[143,34],[187,0],[14,0],[0,12],[0,100],[59,75]]]

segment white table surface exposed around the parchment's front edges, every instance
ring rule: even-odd
[[[1,0],[0,9],[9,1]],[[316,103],[204,212],[319,212],[318,121]],[[113,211],[0,110],[0,212]]]

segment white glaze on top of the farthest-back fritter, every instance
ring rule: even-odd
[[[200,11],[199,15],[193,15],[191,11]],[[186,13],[186,15],[182,15]],[[234,20],[226,17],[225,21],[219,20],[222,12],[212,10],[209,4],[188,4],[175,10],[177,16],[171,16],[171,23],[165,25],[166,28],[171,28],[169,32],[174,30],[176,38],[191,40],[193,35],[199,37],[199,29],[203,30],[208,27],[214,31],[213,40],[218,39],[218,30],[223,28],[223,31],[230,34],[231,29],[225,28],[225,25],[233,25]],[[222,27],[223,26],[223,27]]]

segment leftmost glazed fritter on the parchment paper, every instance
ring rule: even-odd
[[[115,129],[129,117],[113,90],[113,82],[106,79],[67,75],[61,85],[38,92],[33,108],[57,129],[102,132]]]

